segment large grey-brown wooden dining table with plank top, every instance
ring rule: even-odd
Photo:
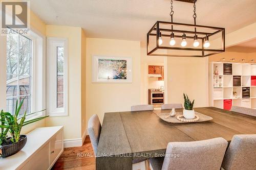
[[[176,109],[176,112],[182,109]],[[256,117],[214,107],[195,108],[212,117],[201,123],[166,123],[157,113],[170,110],[105,113],[96,169],[132,169],[133,160],[164,156],[168,142],[186,142],[236,134],[256,134]]]

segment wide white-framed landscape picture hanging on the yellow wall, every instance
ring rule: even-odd
[[[132,83],[131,57],[92,57],[93,83]]]

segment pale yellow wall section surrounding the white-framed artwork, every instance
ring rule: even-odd
[[[102,122],[105,112],[127,111],[140,104],[140,42],[87,38],[86,46],[87,122],[93,114]],[[93,55],[132,57],[132,83],[92,83]]]

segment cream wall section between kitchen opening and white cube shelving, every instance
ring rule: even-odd
[[[168,103],[184,103],[183,93],[195,107],[208,106],[208,58],[168,57]]]

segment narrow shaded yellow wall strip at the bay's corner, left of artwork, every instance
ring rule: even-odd
[[[81,136],[86,131],[86,34],[81,30]]]

